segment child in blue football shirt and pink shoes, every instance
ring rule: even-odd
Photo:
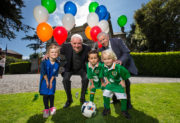
[[[54,107],[54,93],[56,89],[56,77],[59,71],[59,62],[56,58],[59,56],[59,48],[55,44],[48,47],[47,54],[49,59],[41,62],[41,77],[39,85],[39,93],[43,95],[44,113],[43,117],[47,118],[49,115],[56,113]],[[50,107],[49,103],[50,102]]]

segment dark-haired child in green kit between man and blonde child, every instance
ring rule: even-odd
[[[99,62],[98,52],[96,50],[91,50],[88,53],[88,63],[87,63],[87,77],[90,81],[90,101],[94,101],[94,94],[96,89],[103,87],[102,82],[102,63]],[[103,90],[103,88],[102,88]]]

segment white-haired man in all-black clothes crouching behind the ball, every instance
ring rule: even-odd
[[[65,71],[62,73],[62,82],[67,95],[67,101],[63,108],[69,107],[73,102],[70,78],[74,74],[81,76],[82,87],[80,102],[83,104],[85,101],[85,93],[89,82],[86,76],[85,63],[88,60],[88,52],[90,49],[89,46],[83,44],[82,36],[79,34],[72,35],[70,43],[62,45],[60,53],[64,55],[66,59],[66,64],[64,66]]]

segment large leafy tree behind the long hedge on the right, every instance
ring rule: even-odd
[[[180,46],[180,0],[151,0],[135,12],[133,37],[145,36],[149,51],[178,50]],[[140,38],[138,39],[140,40]]]

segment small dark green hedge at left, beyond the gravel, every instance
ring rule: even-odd
[[[30,62],[16,62],[9,65],[9,72],[11,74],[23,74],[28,73],[31,70]]]

